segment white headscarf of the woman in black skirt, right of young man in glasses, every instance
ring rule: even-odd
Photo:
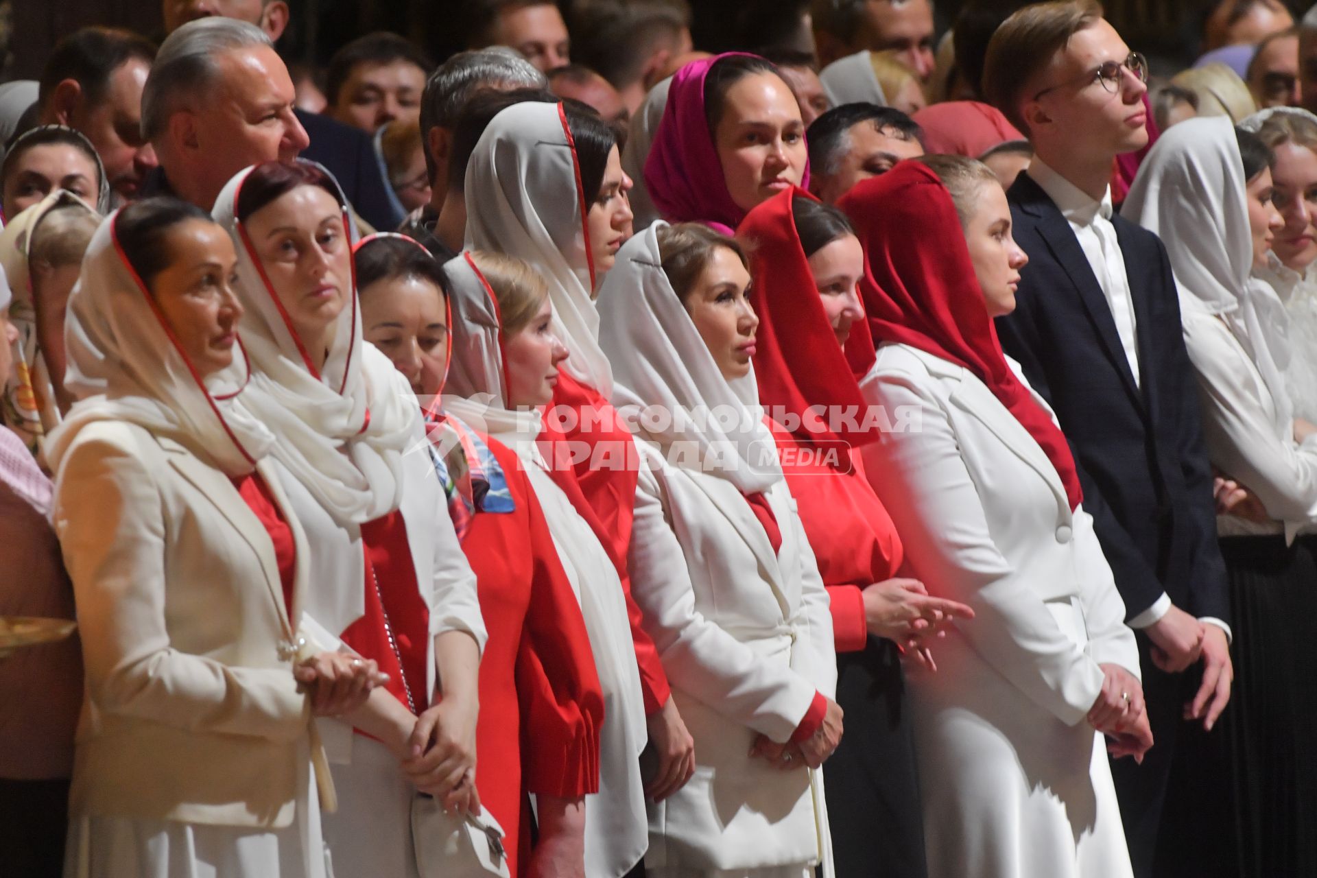
[[[1252,233],[1247,182],[1234,126],[1222,116],[1191,118],[1162,134],[1121,208],[1155,232],[1180,291],[1180,308],[1221,317],[1258,366],[1288,436],[1292,404],[1285,307],[1268,283],[1251,276]]]

